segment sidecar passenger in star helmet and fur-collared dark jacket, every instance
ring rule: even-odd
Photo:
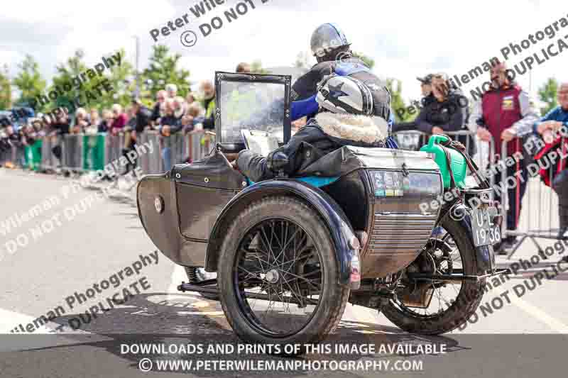
[[[388,123],[385,118],[376,116],[373,93],[359,79],[330,75],[317,91],[316,101],[319,112],[315,118],[298,130],[286,145],[273,150],[268,157],[242,150],[236,168],[253,182],[258,182],[275,176],[267,162],[276,152],[283,152],[288,157],[283,172],[293,176],[344,145],[385,146]],[[334,169],[329,168],[328,171]]]

